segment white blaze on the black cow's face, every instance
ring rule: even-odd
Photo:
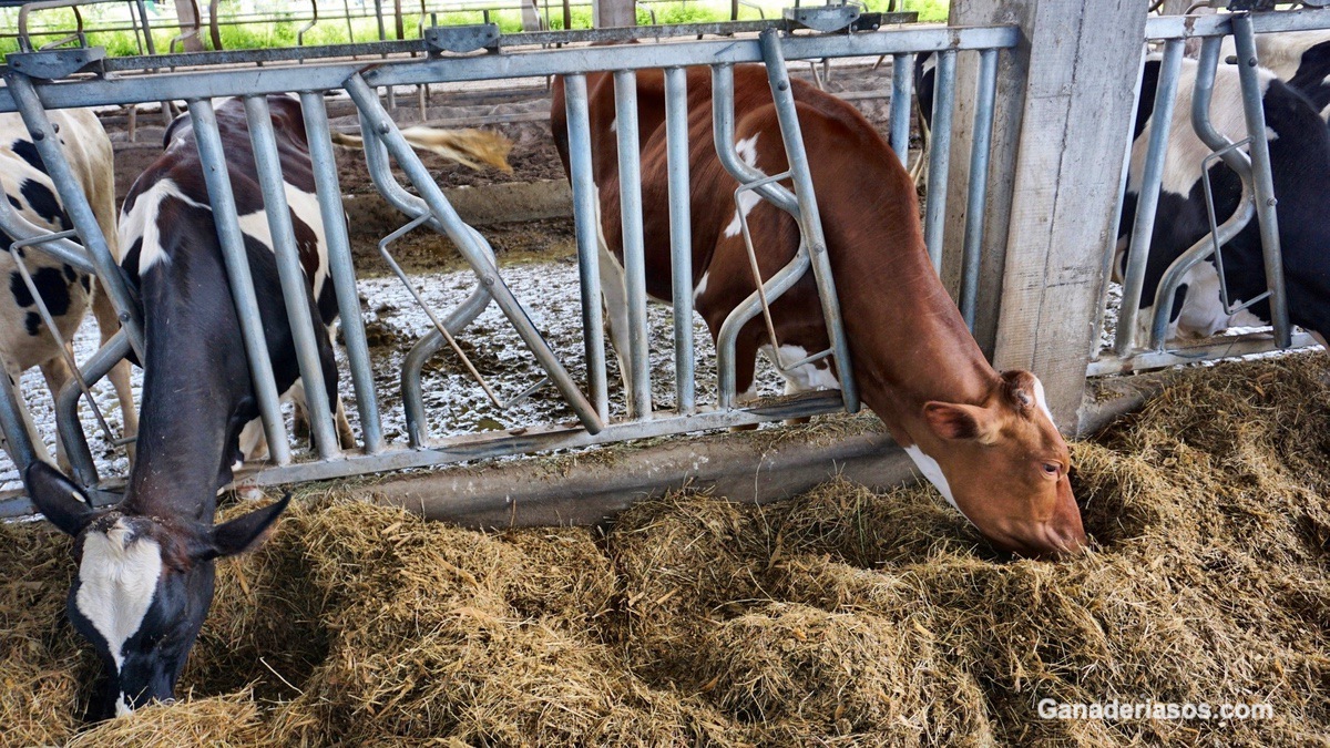
[[[138,631],[153,604],[161,572],[161,547],[150,538],[130,538],[124,519],[84,539],[74,604],[106,640],[117,672],[125,659],[125,642]]]

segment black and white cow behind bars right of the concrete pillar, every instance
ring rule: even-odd
[[[1158,81],[1160,61],[1148,60],[1137,109],[1128,196],[1119,230],[1119,273],[1125,268],[1127,242],[1136,217],[1146,142],[1154,125],[1150,113]],[[1188,248],[1209,233],[1200,165],[1210,150],[1196,137],[1190,125],[1192,92],[1197,64],[1182,61],[1178,94],[1169,130],[1157,220],[1146,262],[1141,294],[1142,325],[1148,330],[1153,314],[1154,289],[1166,270]],[[1289,317],[1323,342],[1330,334],[1330,134],[1317,108],[1270,71],[1261,69],[1266,140],[1270,170],[1278,200],[1279,242],[1283,256]],[[1220,133],[1237,141],[1245,137],[1237,68],[1221,64],[1216,71],[1210,120]],[[1214,162],[1210,166],[1216,217],[1222,222],[1238,208],[1241,184],[1236,173]],[[1265,293],[1265,269],[1260,226],[1253,218],[1222,249],[1224,274],[1230,302]],[[1229,315],[1220,297],[1220,276],[1214,260],[1197,264],[1185,277],[1170,311],[1170,334],[1205,337],[1230,326],[1257,326],[1269,321],[1269,305],[1257,302]],[[1137,339],[1141,339],[1140,337]]]

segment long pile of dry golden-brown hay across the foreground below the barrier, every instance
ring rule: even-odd
[[[0,527],[0,743],[1306,745],[1330,729],[1330,367],[1178,377],[1075,446],[1099,552],[1011,562],[930,490],[676,495],[485,535],[335,496],[221,567],[189,700],[76,736],[68,543]],[[247,508],[247,507],[245,507]],[[1273,719],[1043,720],[1041,699]]]

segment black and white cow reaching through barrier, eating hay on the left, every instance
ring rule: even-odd
[[[314,327],[329,385],[323,397],[335,406],[336,366],[326,325],[336,303],[303,117],[294,98],[270,97],[269,105],[310,309],[319,322]],[[273,373],[286,391],[299,370],[242,102],[219,105],[217,121]],[[254,544],[286,506],[278,502],[213,526],[217,491],[231,478],[241,430],[258,417],[258,406],[188,114],[176,120],[165,153],[130,188],[120,244],[121,268],[142,299],[145,335],[138,457],[125,498],[114,508],[93,510],[51,466],[37,463],[27,475],[41,512],[76,538],[78,576],[69,591],[69,618],[104,664],[92,719],[173,697],[211,604],[214,559]]]

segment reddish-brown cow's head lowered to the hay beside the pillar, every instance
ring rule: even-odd
[[[1067,442],[1033,374],[1005,371],[980,405],[928,402],[923,421],[907,451],[984,536],[1036,558],[1085,547]]]

